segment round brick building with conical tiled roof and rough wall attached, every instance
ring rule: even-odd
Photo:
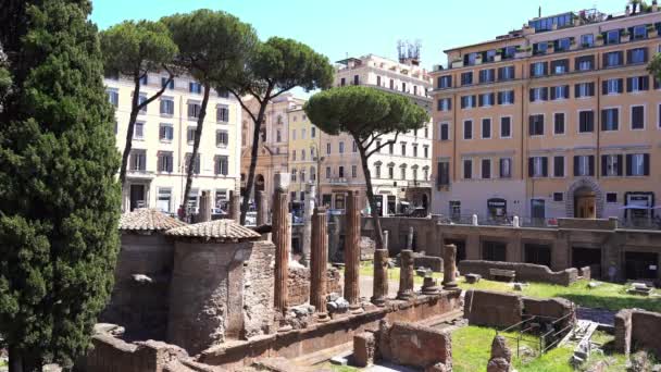
[[[198,354],[271,333],[275,246],[233,220],[173,228],[167,342]]]

